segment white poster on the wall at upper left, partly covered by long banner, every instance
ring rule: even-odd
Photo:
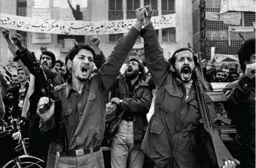
[[[50,7],[32,8],[32,18],[50,20]],[[32,33],[32,43],[51,43],[51,34]]]

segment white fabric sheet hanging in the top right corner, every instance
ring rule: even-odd
[[[228,11],[255,12],[255,0],[221,0],[220,13]]]

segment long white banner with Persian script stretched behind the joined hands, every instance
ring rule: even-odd
[[[175,27],[175,13],[151,18],[155,29]],[[49,34],[119,34],[126,33],[136,23],[133,20],[101,22],[42,20],[1,13],[1,28]]]

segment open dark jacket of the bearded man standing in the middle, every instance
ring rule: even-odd
[[[140,80],[133,91],[133,98],[129,98],[129,86],[125,77],[117,78],[117,81],[111,91],[111,98],[119,98],[123,100],[122,104],[117,108],[117,116],[111,121],[108,138],[117,131],[117,126],[123,116],[123,113],[131,113],[133,115],[133,133],[136,148],[140,148],[141,142],[148,126],[147,113],[151,107],[153,95],[148,83]],[[139,142],[139,143],[138,143]]]

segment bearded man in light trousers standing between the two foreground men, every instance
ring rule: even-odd
[[[117,78],[111,91],[111,102],[117,104],[117,115],[108,131],[112,168],[143,166],[145,155],[141,145],[153,97],[148,83],[142,80],[144,76],[143,65],[132,58],[126,65],[123,77]]]

